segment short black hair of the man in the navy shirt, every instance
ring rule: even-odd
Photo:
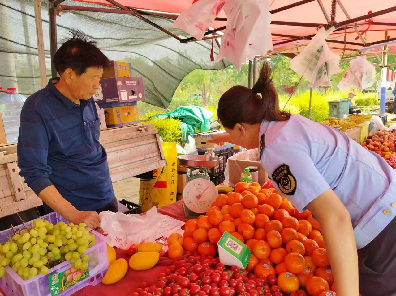
[[[70,32],[71,37],[63,40],[61,47],[55,53],[53,64],[59,74],[67,68],[77,75],[82,75],[89,67],[107,68],[109,59],[96,47],[96,42],[89,40],[81,32]]]

